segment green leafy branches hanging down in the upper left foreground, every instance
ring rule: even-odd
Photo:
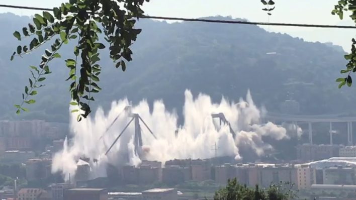
[[[38,66],[30,66],[32,77],[29,85],[22,94],[22,103],[15,105],[17,113],[27,111],[24,104],[33,104],[32,97],[37,94],[37,88],[44,86],[45,75],[51,73],[49,63],[60,58],[62,45],[74,40],[76,45],[73,57],[65,60],[70,80],[70,94],[73,99],[70,105],[76,107],[72,112],[80,112],[77,120],[91,113],[90,102],[94,101],[92,93],[101,90],[98,85],[102,70],[100,49],[106,46],[99,42],[103,33],[108,43],[109,57],[116,63],[116,68],[126,69],[125,61],[131,61],[130,46],[136,40],[140,29],[135,29],[135,19],[143,11],[141,6],[149,0],[70,0],[58,8],[53,8],[52,14],[43,12],[36,14],[33,23],[22,28],[22,33],[14,32],[19,40],[30,38],[29,45],[19,45],[11,56],[29,54],[47,42],[52,42],[51,48],[46,49]],[[83,100],[84,99],[84,100]]]

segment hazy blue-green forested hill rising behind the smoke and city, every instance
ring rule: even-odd
[[[219,19],[229,19],[222,18]],[[0,26],[0,118],[68,120],[69,82],[64,61],[51,65],[53,73],[39,90],[37,103],[30,113],[17,117],[13,105],[21,101],[28,82],[28,66],[38,65],[42,51],[10,61],[18,45],[13,37],[30,18],[1,14]],[[301,105],[301,114],[332,114],[352,111],[355,89],[337,89],[335,82],[345,60],[339,47],[305,42],[286,34],[269,33],[251,25],[211,23],[173,23],[142,19],[143,31],[133,46],[134,61],[127,63],[126,72],[116,69],[101,54],[103,73],[95,106],[108,108],[110,103],[125,96],[133,102],[162,98],[168,109],[180,113],[184,90],[205,92],[215,101],[221,96],[238,101],[251,90],[257,105],[279,112],[279,105],[289,98]],[[274,52],[274,54],[270,54]],[[72,56],[72,46],[62,51],[62,58]],[[351,109],[350,109],[351,108]]]

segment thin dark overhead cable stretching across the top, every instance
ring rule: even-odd
[[[36,8],[26,6],[2,5],[3,8],[13,9],[27,9],[37,11],[53,11],[48,8]],[[269,22],[247,22],[236,20],[208,20],[208,19],[194,19],[194,18],[174,18],[174,17],[158,17],[158,16],[141,16],[143,19],[156,20],[174,20],[174,21],[188,21],[188,22],[208,22],[208,23],[222,23],[222,24],[246,24],[246,25],[261,25],[261,26],[288,26],[288,27],[307,27],[307,28],[337,28],[337,29],[356,29],[356,26],[337,26],[337,25],[320,25],[320,24],[292,24],[292,23],[269,23]]]

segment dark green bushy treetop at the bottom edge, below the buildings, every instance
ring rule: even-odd
[[[258,185],[255,188],[241,185],[237,182],[236,178],[228,180],[227,186],[216,191],[214,200],[288,200],[293,199],[296,193],[291,189],[293,186],[289,183],[278,185],[272,184],[269,188],[259,188]]]

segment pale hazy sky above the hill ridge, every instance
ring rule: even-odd
[[[63,0],[2,0],[2,4],[53,8]],[[248,3],[247,3],[248,2]],[[276,10],[268,18],[261,11],[259,0],[151,0],[144,6],[146,14],[151,16],[198,18],[207,16],[232,16],[258,22],[306,23],[329,25],[353,25],[352,21],[340,21],[331,15],[337,0],[275,0]],[[18,15],[33,15],[36,11],[0,8],[0,13],[12,12]],[[333,42],[349,50],[350,40],[356,30],[263,27],[274,32],[288,33],[307,41]]]

